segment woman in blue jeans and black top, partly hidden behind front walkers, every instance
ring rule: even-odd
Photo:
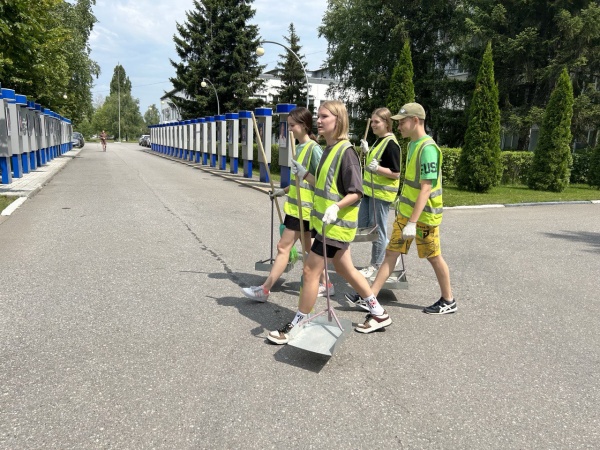
[[[366,140],[360,148],[366,155],[363,176],[364,195],[358,212],[358,227],[377,224],[377,240],[371,244],[371,263],[360,271],[371,278],[385,256],[387,246],[387,218],[392,202],[400,188],[400,146],[392,133],[392,113],[387,108],[378,108],[371,115],[371,129],[377,140],[369,149]]]

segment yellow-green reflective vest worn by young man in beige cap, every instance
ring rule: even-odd
[[[438,178],[435,187],[432,186],[431,193],[427,199],[427,204],[423,208],[423,212],[419,216],[417,222],[425,223],[431,226],[438,226],[442,223],[442,152],[435,141],[431,138],[423,139],[419,146],[415,149],[410,160],[406,161],[406,174],[404,176],[404,184],[400,193],[400,201],[398,203],[398,211],[404,217],[410,218],[415,202],[421,191],[421,153],[426,145],[435,145],[440,155],[438,168]]]

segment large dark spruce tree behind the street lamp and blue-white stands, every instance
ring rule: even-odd
[[[171,60],[175,77],[170,81],[187,98],[171,101],[183,118],[214,115],[217,97],[212,88],[202,88],[203,78],[214,85],[221,112],[253,109],[260,100],[250,99],[263,85],[258,77],[258,27],[250,25],[255,11],[252,0],[194,0],[186,22],[177,24],[173,37],[180,62]]]

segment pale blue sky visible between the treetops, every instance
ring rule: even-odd
[[[286,44],[284,36],[293,22],[307,68],[318,69],[327,56],[327,41],[318,38],[317,31],[326,5],[325,0],[255,0],[252,23],[258,25],[262,39]],[[168,80],[175,75],[169,58],[178,60],[173,42],[175,25],[184,23],[186,11],[192,8],[192,0],[97,0],[94,14],[98,23],[90,46],[91,57],[102,73],[95,81],[92,98],[109,94],[113,70],[121,63],[131,80],[132,95],[140,101],[142,115],[151,104],[160,109],[160,97],[172,88]],[[269,70],[285,50],[272,44],[264,48],[260,62]]]

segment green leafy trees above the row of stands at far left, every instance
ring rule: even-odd
[[[0,2],[0,80],[72,119],[91,115],[98,65],[89,57],[94,0]],[[65,98],[66,97],[66,98]]]

